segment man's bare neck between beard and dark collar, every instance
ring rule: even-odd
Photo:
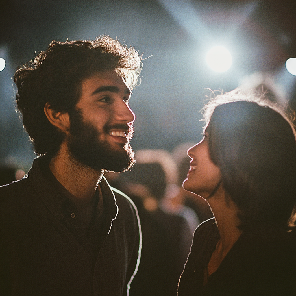
[[[92,201],[102,170],[94,170],[74,159],[63,144],[49,162],[49,168],[73,196],[71,199],[75,204],[86,205]]]

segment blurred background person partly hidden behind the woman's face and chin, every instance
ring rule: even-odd
[[[187,178],[187,173],[190,168],[187,150],[193,145],[194,143],[192,142],[185,142],[173,149],[172,155],[178,167],[178,190],[176,190],[177,194],[171,199],[171,202],[176,205],[176,207],[184,205],[192,208],[198,217],[199,223],[201,223],[207,219],[213,218],[210,205],[204,198],[196,198],[195,194],[183,189],[183,181]]]

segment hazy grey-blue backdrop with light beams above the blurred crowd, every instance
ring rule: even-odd
[[[197,142],[211,89],[230,91],[265,79],[281,102],[296,106],[296,1],[5,1],[0,2],[0,160],[30,168],[34,153],[15,112],[12,76],[52,40],[88,40],[101,34],[135,46],[143,58],[142,84],[133,91],[135,150],[170,151]],[[214,45],[233,63],[224,73],[205,64]]]

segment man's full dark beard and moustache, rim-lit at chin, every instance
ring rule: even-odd
[[[70,137],[68,151],[78,161],[94,170],[123,172],[134,163],[135,157],[128,143],[133,136],[133,128],[127,125],[105,125],[103,130],[109,134],[111,129],[123,129],[128,134],[128,142],[122,150],[112,147],[107,141],[100,141],[100,133],[91,123],[85,123],[79,110],[70,112]],[[115,144],[116,145],[116,144]]]

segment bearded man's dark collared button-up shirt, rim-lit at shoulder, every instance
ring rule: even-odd
[[[0,294],[127,295],[141,249],[133,202],[103,178],[104,219],[96,213],[87,237],[77,207],[42,172],[43,161],[0,188]]]

